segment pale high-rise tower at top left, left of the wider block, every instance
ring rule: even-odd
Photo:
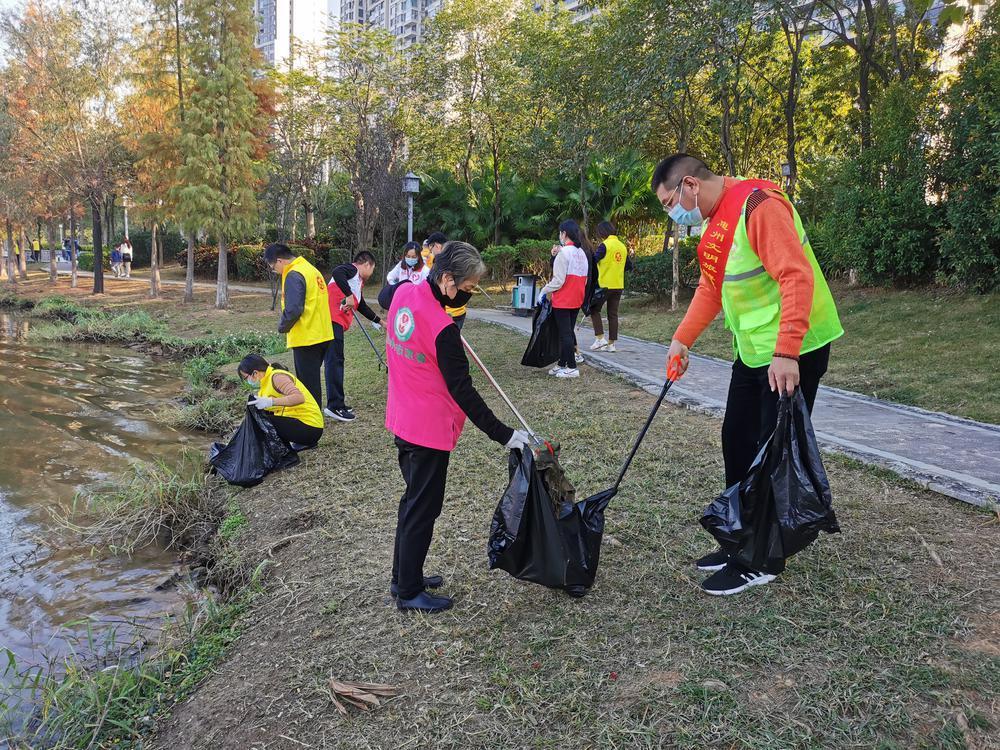
[[[340,0],[254,0],[257,49],[271,65],[285,65],[293,38],[301,44],[323,44],[340,5]]]

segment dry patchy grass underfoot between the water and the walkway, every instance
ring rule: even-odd
[[[578,490],[606,486],[652,397],[589,368],[555,382],[517,364],[524,339],[467,331],[533,426],[562,443]],[[456,607],[397,613],[387,586],[402,482],[381,425],[385,374],[359,333],[347,344],[359,419],[237,495],[248,523],[235,546],[247,566],[270,561],[268,595],[158,747],[1000,747],[1000,656],[982,646],[1000,604],[996,519],[830,459],[844,533],[771,586],[706,597],[691,560],[711,547],[697,517],[721,489],[719,424],[674,407],[609,508],[582,600],[486,569],[506,458],[469,426],[428,563]],[[401,696],[345,718],[331,678]]]

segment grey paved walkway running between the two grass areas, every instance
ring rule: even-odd
[[[489,309],[470,309],[469,317],[531,332],[531,318]],[[659,393],[667,347],[627,336],[615,354],[589,352],[591,337],[581,337],[587,363],[621,375]],[[691,355],[691,366],[668,399],[721,416],[725,410],[731,362]],[[1000,426],[820,386],[813,412],[816,436],[828,449],[877,464],[928,489],[975,505],[1000,502]]]

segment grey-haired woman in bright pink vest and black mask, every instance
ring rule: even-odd
[[[426,283],[404,281],[393,288],[385,339],[385,426],[396,436],[406,483],[399,500],[389,587],[399,609],[439,612],[451,607],[448,597],[428,593],[444,581],[441,576],[424,577],[424,560],[444,503],[448,459],[466,417],[507,448],[528,444],[527,433],[497,419],[476,391],[461,334],[444,310],[466,304],[485,272],[476,248],[448,242],[434,259]],[[414,399],[414,393],[420,398]]]

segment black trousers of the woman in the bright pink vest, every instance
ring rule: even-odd
[[[451,453],[400,438],[396,438],[396,449],[406,490],[399,499],[396,518],[392,582],[399,586],[400,599],[412,599],[424,590],[424,560],[434,535],[434,522],[444,505]]]

